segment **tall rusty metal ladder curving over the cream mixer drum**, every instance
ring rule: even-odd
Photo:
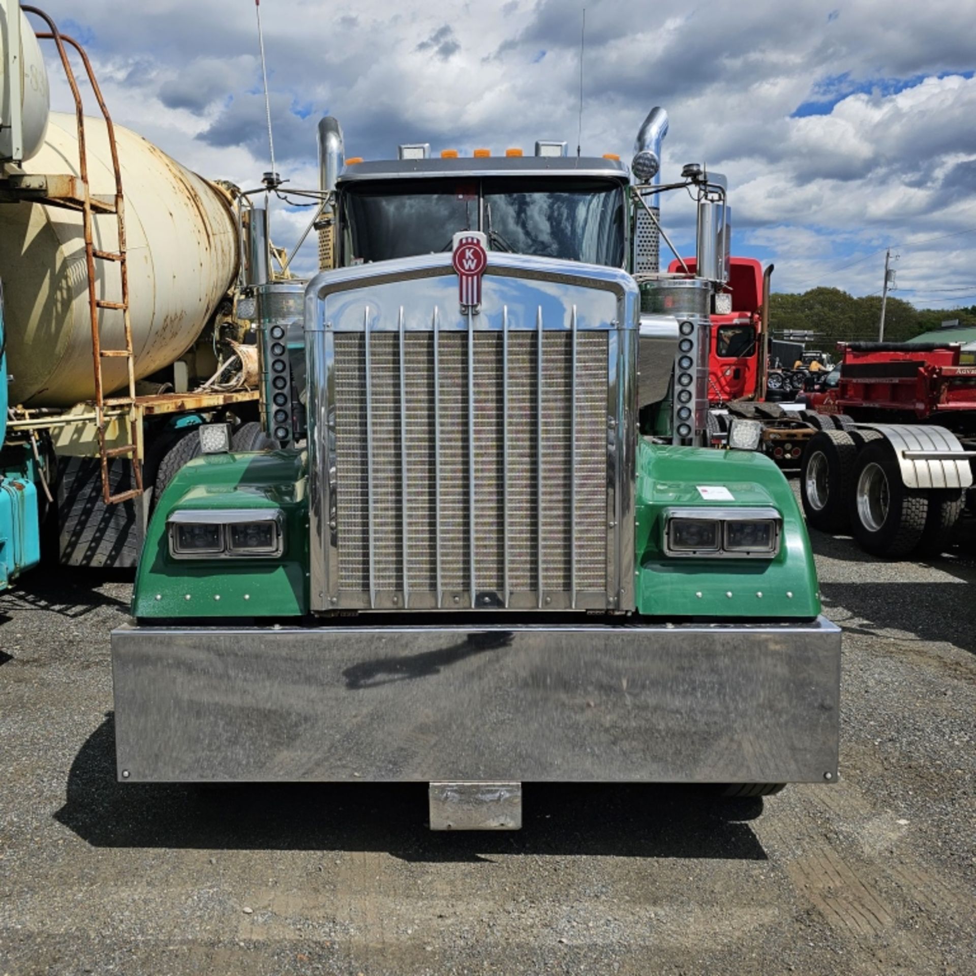
[[[126,254],[126,229],[125,229],[125,198],[122,192],[122,170],[119,166],[118,146],[115,142],[115,128],[112,125],[111,116],[108,114],[108,107],[102,98],[102,90],[95,77],[92,62],[88,60],[88,55],[84,48],[73,38],[66,34],[61,34],[54,20],[47,14],[38,10],[36,7],[23,6],[20,8],[25,13],[34,14],[44,20],[48,25],[48,32],[39,33],[37,37],[42,40],[53,40],[58,47],[61,56],[61,64],[67,77],[68,85],[71,88],[71,95],[74,97],[75,117],[78,125],[78,173],[79,183],[82,194],[78,199],[78,207],[82,214],[84,234],[85,234],[85,264],[88,273],[88,305],[91,313],[92,325],[92,356],[95,372],[95,412],[96,423],[99,435],[99,457],[102,466],[102,500],[105,505],[117,505],[120,502],[128,502],[130,499],[138,498],[142,495],[142,465],[140,457],[142,455],[142,425],[138,416],[136,403],[136,373],[135,356],[132,346],[132,320],[129,313],[129,264]],[[93,196],[88,180],[88,152],[85,144],[85,113],[82,105],[81,93],[74,77],[74,71],[67,58],[67,51],[64,45],[69,44],[77,51],[85,65],[89,83],[92,91],[99,102],[102,110],[102,118],[105,121],[105,134],[108,139],[108,148],[112,157],[112,169],[115,175],[115,197],[114,200],[105,200]],[[118,226],[118,250],[102,251],[95,247],[93,240],[93,215],[114,214]],[[121,301],[109,302],[100,299],[98,296],[98,274],[96,262],[107,262],[118,264],[119,278],[121,284]],[[125,346],[119,349],[103,348],[102,334],[100,328],[100,312],[120,311],[123,317],[125,332]],[[102,383],[102,360],[104,359],[125,359],[128,386],[124,395],[106,398]],[[110,412],[112,418],[119,422],[124,422],[127,428],[127,436],[123,439],[126,443],[118,447],[106,447],[105,433],[108,421],[106,420],[105,410]],[[117,494],[112,494],[111,482],[108,474],[108,462],[112,458],[129,458],[132,463],[132,485],[133,487]]]

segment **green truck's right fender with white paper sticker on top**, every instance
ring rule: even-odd
[[[718,492],[709,489],[720,489]],[[701,489],[705,489],[703,492]],[[715,499],[712,496],[718,495]],[[669,508],[776,508],[783,517],[772,559],[664,552]],[[639,442],[636,601],[649,616],[812,619],[820,612],[813,553],[793,490],[768,458],[747,451]]]

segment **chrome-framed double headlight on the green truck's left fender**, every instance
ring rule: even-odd
[[[174,511],[168,521],[174,559],[265,556],[285,551],[284,513],[279,508],[203,508]]]

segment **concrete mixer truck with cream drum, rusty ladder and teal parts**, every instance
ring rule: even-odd
[[[50,18],[0,0],[0,27],[3,590],[36,565],[42,536],[70,565],[134,566],[202,421],[231,422],[239,447],[265,442],[239,300],[267,278],[269,249],[260,198],[113,125],[83,49]],[[50,111],[41,41],[72,114]]]

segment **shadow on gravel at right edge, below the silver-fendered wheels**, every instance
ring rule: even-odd
[[[875,636],[879,630],[906,630],[919,645],[945,641],[976,654],[976,611],[968,584],[822,583],[825,600],[867,623],[835,620],[845,633]],[[922,651],[924,647],[922,646]]]

